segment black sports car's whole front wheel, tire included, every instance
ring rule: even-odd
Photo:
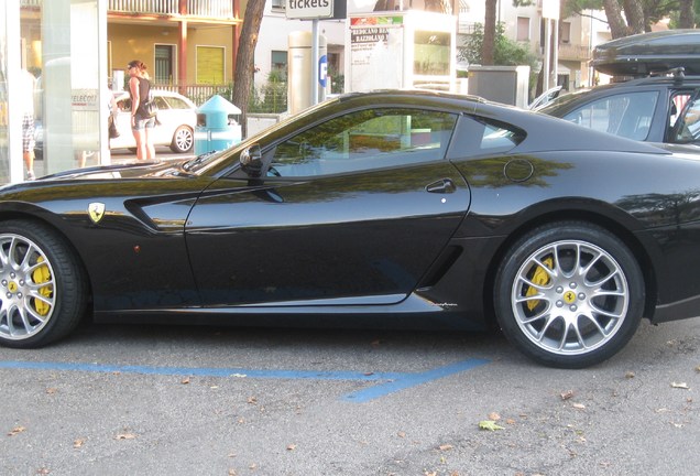
[[[87,281],[74,252],[46,225],[0,223],[0,345],[35,348],[67,335],[86,311]]]

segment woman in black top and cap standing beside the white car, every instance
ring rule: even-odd
[[[131,130],[136,140],[136,159],[155,159],[155,148],[151,132],[155,127],[155,118],[149,117],[143,104],[149,99],[151,83],[146,66],[134,60],[129,63],[129,95],[131,96]]]

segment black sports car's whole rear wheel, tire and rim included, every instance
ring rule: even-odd
[[[559,221],[511,247],[493,299],[501,329],[523,354],[550,367],[583,368],[632,338],[645,289],[635,257],[614,235]]]

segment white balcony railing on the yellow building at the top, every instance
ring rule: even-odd
[[[233,19],[231,0],[187,0],[188,17]],[[109,0],[108,10],[120,13],[179,15],[179,0]]]

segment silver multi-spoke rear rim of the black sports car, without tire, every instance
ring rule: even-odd
[[[627,279],[615,259],[590,242],[565,240],[532,253],[519,268],[511,304],[536,346],[580,355],[605,345],[630,304]]]

